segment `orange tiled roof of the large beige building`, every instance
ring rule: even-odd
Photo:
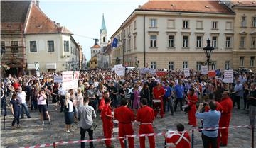
[[[186,11],[205,13],[233,13],[218,1],[174,1],[174,0],[151,0],[146,2],[142,10],[156,11]]]

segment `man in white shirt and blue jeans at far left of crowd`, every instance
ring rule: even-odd
[[[21,103],[21,119],[24,118],[23,109],[25,109],[26,115],[28,118],[31,118],[28,112],[28,106],[26,105],[26,93],[22,91],[21,87],[18,87],[18,101]]]

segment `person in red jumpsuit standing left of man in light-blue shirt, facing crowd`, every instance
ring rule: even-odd
[[[196,102],[198,98],[195,94],[195,89],[191,87],[188,91],[188,106],[190,106],[190,110],[188,110],[188,125],[192,125],[196,127]]]

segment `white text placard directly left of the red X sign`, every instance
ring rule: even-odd
[[[63,84],[62,88],[64,90],[73,89],[73,71],[63,72]]]

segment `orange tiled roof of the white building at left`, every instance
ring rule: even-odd
[[[36,4],[32,4],[31,13],[25,30],[26,34],[34,33],[68,33],[70,31],[65,27],[58,27],[53,21],[41,11]]]

